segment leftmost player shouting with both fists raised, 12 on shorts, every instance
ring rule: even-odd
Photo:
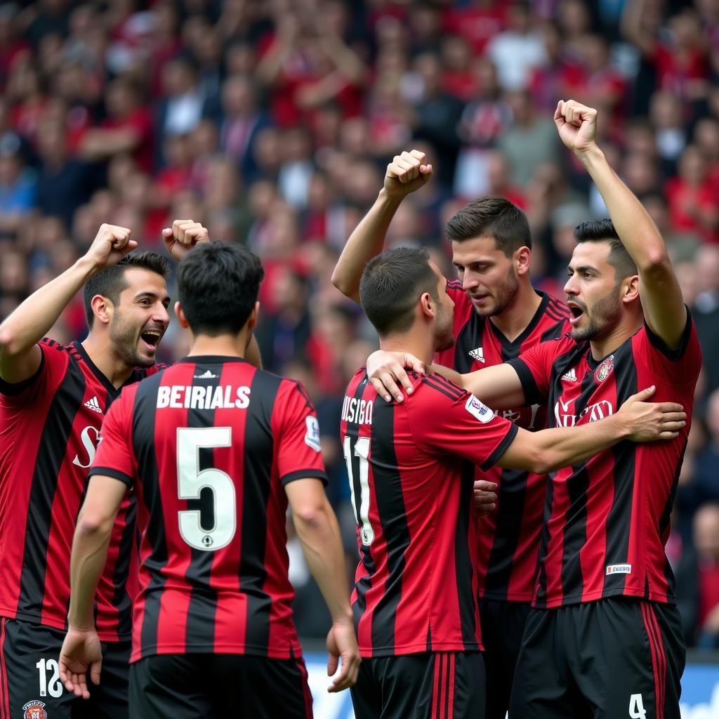
[[[180,259],[207,231],[177,220],[163,237]],[[67,718],[78,704],[63,691],[57,659],[86,472],[104,413],[123,385],[155,372],[169,321],[167,260],[128,254],[135,247],[129,229],[102,225],[86,255],[0,325],[0,716]],[[81,289],[87,338],[42,339]],[[133,524],[134,500],[114,526],[98,592],[104,684],[83,707],[112,719],[127,717]]]

